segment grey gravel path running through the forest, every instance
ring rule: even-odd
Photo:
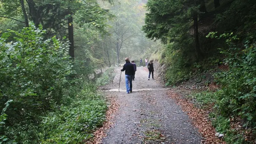
[[[116,69],[113,84],[104,88],[108,95],[116,96],[120,108],[103,144],[200,144],[202,137],[187,114],[167,97],[167,89],[156,80],[148,80],[145,68],[137,68],[130,94],[125,92],[122,73],[118,92],[120,69]]]

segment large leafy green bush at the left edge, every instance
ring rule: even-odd
[[[18,142],[37,139],[40,115],[60,102],[62,84],[73,73],[68,42],[44,35],[42,26],[30,24],[0,38],[0,108],[13,100],[4,132]]]

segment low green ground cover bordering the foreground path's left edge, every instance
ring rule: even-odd
[[[40,127],[42,143],[78,143],[92,137],[92,131],[105,121],[105,100],[82,91],[67,106],[47,114]]]

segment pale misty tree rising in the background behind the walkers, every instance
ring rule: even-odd
[[[110,33],[114,33],[112,40],[115,41],[117,63],[120,63],[121,49],[124,48],[124,44],[127,45],[128,41],[136,37],[140,31],[138,24],[140,16],[139,13],[135,12],[136,4],[137,1],[135,0],[124,0],[110,6],[110,9],[116,15],[115,20],[109,24],[112,25]]]

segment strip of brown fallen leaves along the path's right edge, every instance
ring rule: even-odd
[[[201,144],[225,144],[222,139],[215,137],[216,131],[211,121],[208,120],[208,112],[206,110],[196,108],[193,103],[189,102],[187,99],[183,99],[174,91],[169,91],[167,94],[181,106],[184,112],[187,112],[189,118],[192,120],[192,124],[204,137]]]

